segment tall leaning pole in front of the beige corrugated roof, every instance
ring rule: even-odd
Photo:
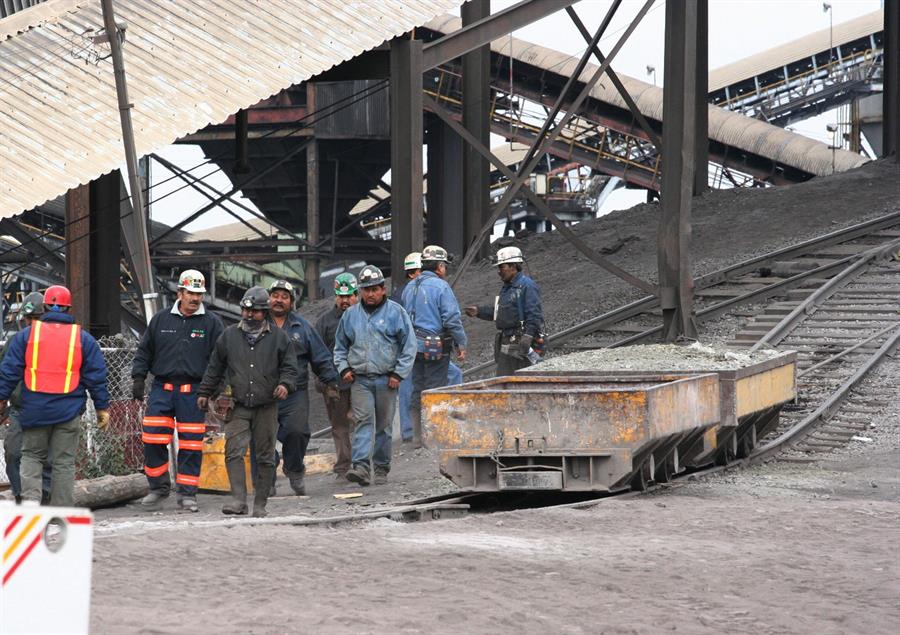
[[[103,7],[103,26],[109,41],[112,55],[113,73],[116,79],[116,96],[119,101],[119,119],[122,125],[122,141],[125,145],[125,165],[128,168],[128,182],[131,186],[131,209],[137,216],[133,223],[136,232],[133,244],[139,249],[134,254],[135,275],[144,300],[144,319],[150,318],[159,308],[159,295],[153,279],[153,265],[150,263],[150,248],[147,240],[147,211],[144,207],[143,190],[138,173],[137,153],[134,148],[134,130],[131,125],[131,109],[133,104],[128,100],[128,85],[125,80],[125,60],[122,57],[122,42],[119,40],[119,28],[112,0],[100,0]],[[122,31],[124,40],[124,29]],[[118,206],[116,206],[118,209]]]

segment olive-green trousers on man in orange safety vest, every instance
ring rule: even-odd
[[[75,506],[75,453],[81,415],[52,426],[22,429],[22,498],[41,502],[44,464],[49,460],[53,476],[50,482],[50,504]]]

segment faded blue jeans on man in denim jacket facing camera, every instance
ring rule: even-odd
[[[391,468],[391,422],[397,391],[388,388],[387,375],[357,375],[350,385],[350,404],[356,427],[353,430],[353,465]]]

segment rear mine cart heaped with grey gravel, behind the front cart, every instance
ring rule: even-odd
[[[757,358],[742,353],[727,353],[727,358],[701,359],[699,364],[696,357],[686,356],[679,364],[677,356],[663,346],[640,348],[643,349],[640,353],[631,356],[640,360],[631,364],[637,366],[634,370],[619,368],[615,360],[607,363],[603,356],[596,358],[594,368],[576,370],[585,366],[584,360],[579,359],[584,356],[576,353],[551,360],[554,362],[550,365],[553,369],[542,369],[541,366],[546,365],[541,364],[536,368],[523,369],[517,375],[590,378],[647,376],[650,367],[659,376],[669,377],[715,373],[719,378],[719,424],[685,435],[667,456],[655,453],[653,468],[654,480],[657,481],[666,480],[686,467],[725,464],[748,456],[757,440],[778,424],[784,404],[797,396],[797,354],[793,351],[769,352]],[[628,349],[617,350],[622,351],[623,357],[629,357]],[[655,352],[660,353],[656,359]],[[747,357],[746,361],[742,361],[744,357]],[[572,362],[567,362],[567,358]],[[701,366],[702,370],[698,370],[697,366]]]

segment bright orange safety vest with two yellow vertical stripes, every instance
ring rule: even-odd
[[[33,392],[66,394],[81,382],[81,327],[36,321],[25,347],[25,386]]]

